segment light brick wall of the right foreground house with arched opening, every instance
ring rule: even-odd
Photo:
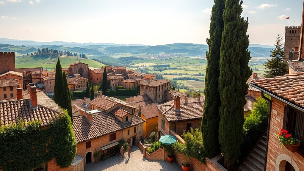
[[[271,125],[269,132],[269,144],[268,144],[268,156],[267,156],[267,171],[277,171],[280,161],[282,160],[278,156],[288,156],[286,160],[294,166],[298,166],[299,170],[304,170],[303,157],[299,153],[292,153],[288,149],[282,151],[275,133],[283,128],[284,117],[284,103],[272,98],[272,110],[271,110]],[[283,155],[282,155],[283,154]]]

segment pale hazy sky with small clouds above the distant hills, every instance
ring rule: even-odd
[[[78,43],[206,44],[213,0],[0,0],[0,38]],[[244,0],[250,44],[300,26],[301,0]],[[1,43],[1,42],[0,42]]]

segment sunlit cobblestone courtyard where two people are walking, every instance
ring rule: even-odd
[[[169,163],[167,161],[150,161],[143,157],[143,152],[138,146],[131,147],[130,159],[128,154],[124,159],[121,156],[113,156],[105,161],[90,163],[85,167],[85,171],[180,171],[181,166],[176,162]]]

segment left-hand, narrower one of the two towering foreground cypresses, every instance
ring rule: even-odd
[[[214,0],[212,7],[211,22],[207,44],[209,52],[206,52],[207,68],[205,77],[205,101],[202,118],[203,144],[206,154],[213,158],[220,152],[219,145],[219,107],[220,98],[218,91],[219,83],[219,59],[224,28],[223,11],[225,0]]]

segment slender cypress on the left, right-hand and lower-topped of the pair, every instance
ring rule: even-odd
[[[73,115],[72,115],[72,98],[69,86],[67,85],[67,76],[65,75],[65,71],[62,73],[62,82],[64,84],[64,93],[61,95],[62,100],[64,100],[64,105],[61,108],[67,109],[71,117],[71,121],[73,123]]]

